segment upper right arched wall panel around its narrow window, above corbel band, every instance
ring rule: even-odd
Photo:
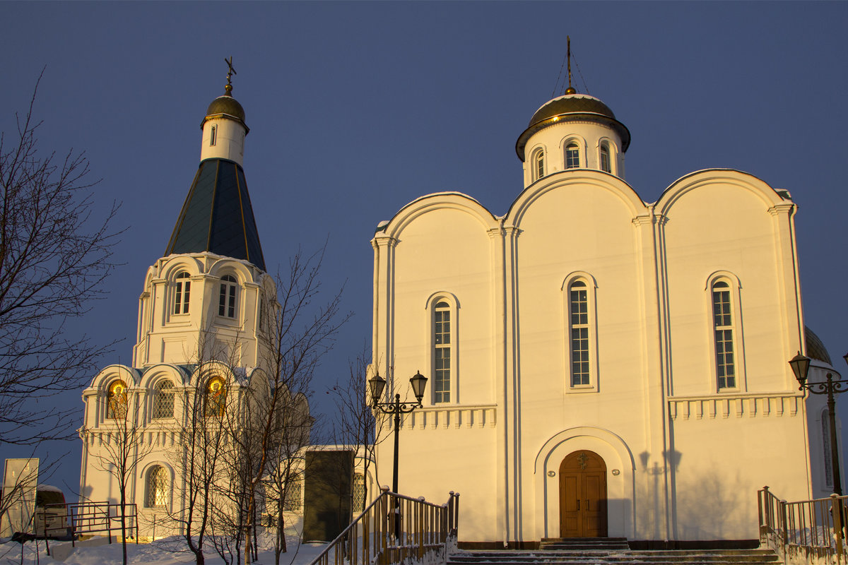
[[[779,288],[769,205],[745,187],[716,181],[686,192],[664,227],[675,396],[717,391],[711,276],[731,282],[736,387],[781,391],[789,384],[787,319]]]

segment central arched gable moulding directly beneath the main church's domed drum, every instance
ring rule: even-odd
[[[632,218],[647,213],[647,207],[633,187],[609,173],[593,169],[568,169],[561,173],[549,174],[541,180],[527,186],[512,202],[505,215],[505,223],[520,227],[527,210],[539,197],[549,191],[567,189],[572,186],[591,186],[615,195],[622,206],[627,208]]]

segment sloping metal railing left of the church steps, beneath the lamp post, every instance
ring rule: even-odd
[[[310,565],[389,565],[444,561],[456,542],[460,495],[438,505],[383,489],[377,500],[332,540]]]

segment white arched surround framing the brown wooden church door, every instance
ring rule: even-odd
[[[564,429],[539,448],[533,463],[536,536],[559,537],[559,469],[573,451],[594,451],[603,458],[607,473],[609,535],[633,538],[635,523],[634,481],[636,462],[619,435],[608,429],[578,426]],[[616,474],[617,471],[617,474]],[[551,475],[553,473],[553,475]]]

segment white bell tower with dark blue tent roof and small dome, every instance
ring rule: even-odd
[[[126,502],[137,507],[142,537],[176,533],[185,519],[187,464],[201,464],[196,444],[207,428],[192,418],[245,418],[248,396],[267,394],[273,370],[265,365],[276,285],[243,170],[248,126],[231,91],[209,104],[197,174],[140,285],[132,363],[103,368],[82,394],[81,500],[120,501],[116,451],[129,441]],[[287,406],[308,416],[303,397]]]

